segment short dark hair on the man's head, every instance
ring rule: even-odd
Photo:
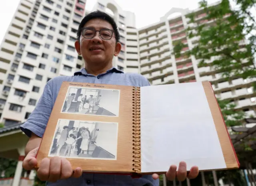
[[[118,32],[118,28],[117,28],[116,22],[114,21],[114,19],[110,15],[106,14],[105,12],[98,11],[98,10],[94,11],[94,12],[91,12],[90,14],[85,16],[82,19],[82,21],[80,22],[79,27],[78,27],[78,31],[77,31],[77,40],[78,41],[80,41],[80,36],[82,34],[81,28],[83,28],[84,25],[88,21],[90,21],[91,19],[102,19],[102,20],[106,20],[107,22],[109,22],[111,24],[111,26],[113,27],[114,33],[116,35],[116,42],[119,42],[120,34]]]

